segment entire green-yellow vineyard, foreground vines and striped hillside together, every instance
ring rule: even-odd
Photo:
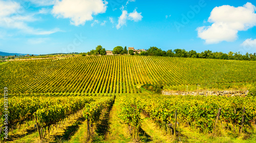
[[[158,56],[7,62],[0,65],[0,122],[8,119],[8,139],[4,124],[0,138],[5,142],[253,142],[255,97],[161,95],[147,88],[161,84],[163,90],[239,90],[255,84],[255,69],[255,61]]]

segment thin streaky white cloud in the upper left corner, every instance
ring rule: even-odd
[[[20,9],[22,7],[16,2],[0,0],[0,27],[18,29],[23,33],[32,35],[49,35],[59,31],[57,28],[51,31],[44,31],[28,26],[27,22],[33,22],[37,19],[34,18],[34,15],[25,15]]]

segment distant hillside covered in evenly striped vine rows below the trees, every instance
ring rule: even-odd
[[[0,88],[10,94],[139,93],[143,84],[168,90],[242,88],[256,81],[254,61],[157,56],[80,56],[8,62],[0,66]]]

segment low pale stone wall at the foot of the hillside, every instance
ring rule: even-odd
[[[206,91],[206,92],[174,92],[174,91],[162,91],[163,95],[216,95],[216,96],[242,96],[248,95],[249,91]]]

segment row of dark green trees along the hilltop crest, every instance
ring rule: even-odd
[[[211,50],[205,50],[203,52],[197,52],[195,50],[186,51],[185,49],[169,49],[167,51],[162,50],[157,47],[150,47],[146,51],[141,51],[140,53],[133,53],[133,50],[127,51],[127,47],[117,46],[113,49],[113,54],[130,54],[130,55],[142,55],[142,56],[169,56],[169,57],[179,57],[179,58],[200,58],[200,59],[221,59],[221,60],[245,60],[245,61],[256,61],[255,53],[246,53],[245,55],[240,52],[212,52]],[[98,45],[96,49],[91,50],[87,53],[82,53],[82,55],[105,55],[106,50]]]

